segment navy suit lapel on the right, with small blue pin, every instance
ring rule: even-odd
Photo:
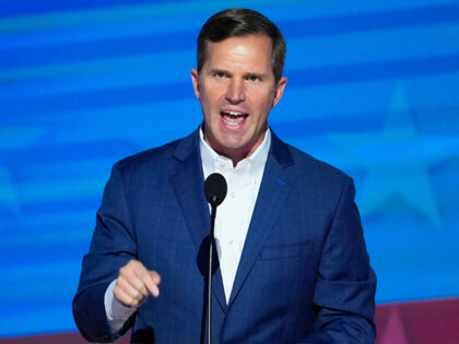
[[[234,303],[274,224],[287,195],[289,174],[285,167],[293,164],[292,155],[283,142],[272,132],[271,149],[251,216],[236,277],[228,303]]]

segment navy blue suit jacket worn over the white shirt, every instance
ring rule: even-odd
[[[161,295],[121,332],[133,325],[139,343],[203,341],[200,249],[210,214],[202,186],[198,131],[114,166],[73,300],[83,336],[118,336],[104,294],[138,259],[162,276]],[[227,305],[220,270],[213,276],[214,343],[374,342],[376,278],[353,199],[351,178],[272,135]]]

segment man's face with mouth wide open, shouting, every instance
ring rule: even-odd
[[[271,39],[264,35],[231,37],[208,44],[201,72],[191,70],[195,94],[204,115],[205,141],[237,164],[260,145],[268,115],[280,100],[271,66]]]

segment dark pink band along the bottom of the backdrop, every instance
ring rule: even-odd
[[[459,298],[376,307],[376,344],[459,343]],[[79,333],[0,339],[0,344],[84,344]],[[129,335],[117,344],[128,344]]]

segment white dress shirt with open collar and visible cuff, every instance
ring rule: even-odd
[[[214,236],[223,287],[228,303],[271,145],[271,131],[267,130],[257,150],[237,163],[236,167],[233,166],[231,158],[219,155],[204,141],[202,128],[199,134],[204,179],[213,173],[220,173],[227,183],[226,198],[216,211]],[[111,330],[119,332],[137,307],[126,307],[120,304],[114,297],[115,286],[116,280],[105,292],[104,305]]]

